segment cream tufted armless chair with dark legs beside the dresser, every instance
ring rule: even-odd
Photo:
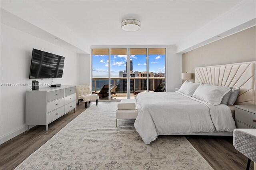
[[[79,105],[79,102],[84,102],[85,108],[87,108],[88,101],[91,103],[91,101],[96,100],[96,105],[98,105],[99,96],[97,94],[92,94],[89,85],[76,86],[76,97],[78,99],[77,105]]]

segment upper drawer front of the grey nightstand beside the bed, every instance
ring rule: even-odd
[[[236,120],[256,128],[256,114],[236,108]]]

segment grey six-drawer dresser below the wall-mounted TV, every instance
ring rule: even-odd
[[[45,87],[26,91],[26,125],[45,125],[62,117],[69,111],[76,111],[76,86]]]

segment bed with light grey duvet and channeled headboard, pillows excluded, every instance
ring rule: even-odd
[[[255,104],[255,66],[253,61],[197,67],[195,81],[240,87],[235,104]],[[232,135],[235,128],[227,105],[214,106],[180,92],[139,93],[136,100],[139,113],[134,127],[146,144],[158,135]]]

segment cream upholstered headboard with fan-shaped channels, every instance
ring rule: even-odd
[[[236,105],[256,104],[256,61],[195,68],[195,81],[240,87]]]

